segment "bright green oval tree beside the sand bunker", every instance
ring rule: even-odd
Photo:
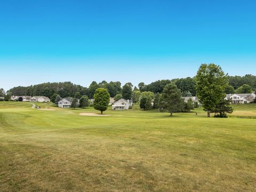
[[[109,97],[110,95],[107,89],[98,88],[94,94],[94,109],[100,110],[100,113],[102,114],[103,111],[107,110],[108,108]]]

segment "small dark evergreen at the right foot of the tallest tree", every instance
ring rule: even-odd
[[[231,99],[222,99],[212,113],[215,113],[214,117],[228,117],[227,113],[233,113],[233,108],[230,106]]]

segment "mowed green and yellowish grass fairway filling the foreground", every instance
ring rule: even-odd
[[[256,191],[256,105],[230,118],[36,105],[55,110],[0,102],[0,191]]]

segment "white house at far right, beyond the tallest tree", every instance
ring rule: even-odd
[[[254,93],[243,93],[243,94],[226,94],[225,99],[231,99],[231,103],[250,103],[253,102],[255,99],[256,95]]]

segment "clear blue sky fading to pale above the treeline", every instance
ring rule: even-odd
[[[0,3],[0,87],[256,75],[256,1]]]

